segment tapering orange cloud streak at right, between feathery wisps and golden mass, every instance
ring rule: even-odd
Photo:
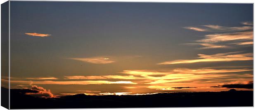
[[[179,64],[179,63],[199,63],[199,62],[217,62],[217,61],[248,61],[253,60],[253,54],[237,54],[237,52],[220,53],[213,55],[198,54],[197,59],[175,60],[158,63],[159,65]]]

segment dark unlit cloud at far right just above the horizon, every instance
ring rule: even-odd
[[[253,82],[249,82],[248,84],[223,84],[213,87],[223,87],[223,88],[239,88],[239,89],[253,89]]]

